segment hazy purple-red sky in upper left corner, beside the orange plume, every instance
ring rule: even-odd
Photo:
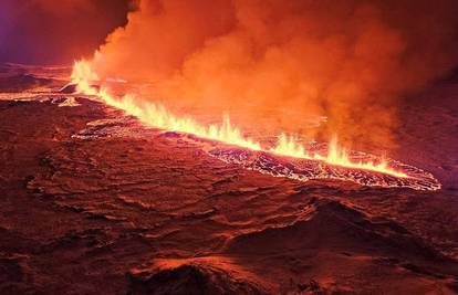
[[[126,0],[0,0],[0,62],[70,64],[126,23]]]

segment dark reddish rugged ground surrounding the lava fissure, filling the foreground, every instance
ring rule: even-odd
[[[402,107],[393,157],[443,183],[416,191],[244,170],[14,71],[0,77],[0,294],[458,293],[452,82]]]

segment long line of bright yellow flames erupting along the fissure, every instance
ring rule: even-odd
[[[382,159],[381,162],[353,161],[347,150],[339,147],[336,136],[331,139],[326,156],[309,154],[296,138],[285,134],[280,134],[275,147],[264,149],[258,141],[244,137],[239,128],[232,126],[229,116],[223,117],[222,125],[205,126],[190,117],[177,117],[165,107],[152,102],[137,99],[131,94],[117,98],[111,95],[106,87],[97,88],[92,85],[94,81],[100,81],[100,78],[93,71],[91,63],[84,60],[75,62],[71,78],[72,83],[76,84],[76,91],[79,93],[97,96],[107,105],[123,109],[126,114],[137,117],[140,122],[160,129],[192,134],[202,138],[287,157],[321,160],[330,165],[371,170],[399,178],[407,177],[406,173],[388,167],[385,159]]]

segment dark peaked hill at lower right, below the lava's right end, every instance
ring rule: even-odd
[[[399,224],[373,221],[363,212],[339,201],[320,200],[304,209],[298,221],[236,236],[229,253],[275,253],[313,249],[350,250],[443,261],[430,245]]]

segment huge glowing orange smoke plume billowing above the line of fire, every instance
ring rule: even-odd
[[[458,61],[457,7],[454,0],[142,0],[94,66],[102,76],[149,82],[149,97],[171,106],[243,114],[242,127],[264,127],[268,117],[290,133],[388,147],[398,98]],[[309,128],[320,117],[326,123]]]

